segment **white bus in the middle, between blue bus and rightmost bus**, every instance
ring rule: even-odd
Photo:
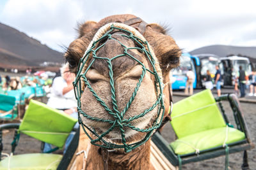
[[[200,60],[200,64],[196,65],[196,74],[197,74],[197,86],[198,88],[204,88],[205,87],[205,80],[206,78],[206,71],[207,69],[211,73],[211,77],[214,78],[215,73],[216,73],[216,68],[219,64],[219,56],[214,55],[212,53],[201,53],[201,54],[196,54],[196,57]],[[193,59],[195,60],[195,59]],[[221,83],[223,85],[223,83]]]

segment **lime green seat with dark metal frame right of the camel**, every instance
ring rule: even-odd
[[[226,100],[233,111],[236,127],[228,121],[221,101]],[[220,108],[219,108],[219,106]],[[211,90],[204,90],[173,104],[172,122],[177,139],[172,143],[156,132],[152,141],[174,165],[244,151],[243,167],[247,167],[246,150],[253,148],[237,97],[226,94],[214,99]]]

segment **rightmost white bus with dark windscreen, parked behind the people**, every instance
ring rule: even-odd
[[[220,58],[220,71],[224,80],[224,85],[235,85],[239,66],[242,66],[243,70],[247,74],[252,72],[252,66],[250,60],[247,57],[230,56]]]

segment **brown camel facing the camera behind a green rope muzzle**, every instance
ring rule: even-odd
[[[88,84],[83,84],[84,81],[81,80],[82,85],[80,86],[82,90],[81,97],[79,97],[81,106],[79,106],[77,110],[81,109],[81,111],[79,111],[81,117],[80,123],[81,129],[84,129],[84,131],[80,131],[77,154],[74,155],[69,169],[154,169],[152,164],[150,164],[150,139],[143,141],[143,143],[136,148],[131,149],[130,147],[130,150],[127,149],[129,148],[129,143],[141,141],[146,136],[144,132],[134,131],[135,128],[132,129],[127,126],[138,127],[138,129],[149,128],[152,126],[154,118],[157,117],[157,108],[159,107],[155,107],[148,111],[147,114],[143,115],[143,117],[136,118],[129,124],[125,124],[126,126],[122,129],[123,134],[120,133],[120,128],[116,125],[113,126],[112,131],[108,132],[108,134],[102,138],[105,141],[110,141],[110,143],[118,143],[118,146],[124,143],[127,147],[111,148],[111,146],[109,146],[110,148],[104,148],[102,147],[104,143],[101,143],[101,141],[95,143],[90,142],[88,137],[84,134],[84,132],[88,133],[92,136],[92,140],[97,139],[99,136],[93,135],[92,131],[84,128],[83,125],[92,128],[97,134],[102,134],[108,131],[111,126],[109,122],[115,122],[116,116],[109,114],[106,108],[110,108],[111,111],[117,110],[117,112],[124,110],[143,73],[141,64],[138,64],[138,62],[142,63],[147,70],[153,70],[153,65],[150,65],[150,61],[147,59],[145,53],[140,52],[140,50],[136,48],[128,50],[129,54],[111,60],[112,76],[110,76],[109,63],[107,64],[106,60],[96,59],[95,62],[90,65],[90,63],[92,63],[91,57],[91,60],[88,60],[86,63],[87,65],[79,64],[84,53],[86,53],[86,49],[88,50],[88,47],[90,48],[90,46],[92,46],[95,34],[99,33],[99,30],[101,31],[102,27],[109,25],[109,23],[110,25],[112,23],[115,23],[115,25],[119,24],[121,25],[120,27],[127,25],[127,27],[135,30],[134,32],[140,32],[140,36],[145,38],[150,45],[150,47],[146,46],[146,48],[148,48],[149,51],[151,49],[154,56],[156,56],[155,66],[158,68],[157,73],[161,79],[161,85],[159,83],[159,87],[156,87],[156,76],[150,73],[150,71],[146,71],[140,88],[123,118],[128,119],[136,117],[138,114],[152,107],[152,104],[156,103],[158,99],[157,88],[159,90],[159,88],[163,87],[163,105],[165,110],[163,111],[163,115],[160,113],[160,116],[163,117],[163,119],[161,119],[163,122],[170,120],[170,109],[168,108],[170,108],[172,96],[170,95],[168,74],[172,68],[179,66],[179,57],[181,55],[181,50],[174,39],[168,36],[166,30],[160,25],[147,24],[141,20],[141,18],[134,15],[112,15],[103,18],[99,22],[84,22],[84,24],[79,25],[79,37],[70,43],[65,53],[65,59],[69,64],[70,71],[80,74],[79,69],[83,69],[83,71],[87,69],[85,77],[86,80],[88,80]],[[114,39],[101,39],[99,43],[97,43],[96,47],[100,46],[100,48],[95,52],[95,55],[97,55],[97,57],[112,59],[124,53],[124,46],[138,46],[136,41],[125,36],[120,36],[120,34],[127,34],[124,32],[125,31],[120,29],[114,29],[110,33],[111,37]],[[130,54],[134,56],[134,59],[128,56]],[[77,75],[77,77],[78,76],[79,75]],[[109,84],[111,80],[115,82],[115,85],[113,85],[115,92],[111,92],[112,86]],[[106,106],[102,106],[100,101],[97,100],[97,97],[93,96],[89,85]],[[113,103],[111,96],[112,98],[114,96],[116,100],[115,103]],[[84,117],[82,113],[86,113],[87,116]],[[100,122],[88,117],[94,117],[99,120],[104,119],[108,120],[108,122]],[[157,120],[157,124],[161,124],[161,120]],[[159,128],[160,127],[161,126],[159,126]],[[152,135],[152,132],[150,135]]]

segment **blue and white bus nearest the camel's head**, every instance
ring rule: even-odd
[[[195,73],[195,81],[193,82],[193,88],[196,88],[196,69],[195,62],[192,60],[192,56],[189,53],[182,53],[180,57],[180,66],[172,70],[172,89],[185,89],[187,76],[186,73],[191,69]]]

